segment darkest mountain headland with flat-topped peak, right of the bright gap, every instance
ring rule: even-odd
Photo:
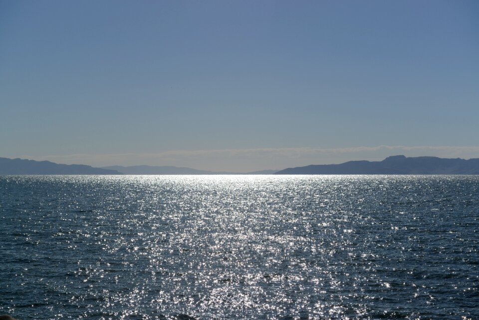
[[[383,161],[348,161],[341,164],[287,168],[276,174],[479,174],[479,158],[392,156]]]

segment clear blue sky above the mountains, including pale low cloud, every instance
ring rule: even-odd
[[[0,157],[479,157],[479,1],[0,0]]]

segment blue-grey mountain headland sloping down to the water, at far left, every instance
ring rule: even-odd
[[[68,165],[50,161],[0,158],[0,174],[120,174],[120,172],[82,164]]]

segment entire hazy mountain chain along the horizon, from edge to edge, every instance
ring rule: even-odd
[[[94,168],[80,164],[0,158],[0,175],[17,174],[145,174],[145,175],[218,175],[218,174],[479,174],[477,159],[437,157],[407,158],[392,156],[383,161],[349,161],[341,164],[309,165],[284,170],[247,173],[215,172],[174,166],[109,166]]]

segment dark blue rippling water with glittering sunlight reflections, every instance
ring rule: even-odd
[[[477,176],[3,176],[0,314],[479,319]]]

